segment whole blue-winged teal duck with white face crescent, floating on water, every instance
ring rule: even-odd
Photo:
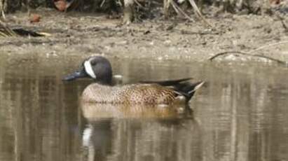
[[[143,81],[137,84],[112,85],[112,68],[108,59],[93,56],[82,63],[78,71],[63,80],[92,78],[82,94],[82,102],[103,104],[185,104],[204,82],[189,83],[191,78],[165,81]]]

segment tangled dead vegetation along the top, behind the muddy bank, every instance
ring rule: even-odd
[[[157,17],[173,17],[176,13],[186,20],[202,20],[205,25],[211,26],[203,10],[207,8],[218,8],[215,14],[219,13],[239,13],[239,14],[271,14],[271,6],[280,5],[284,0],[0,0],[1,17],[5,18],[5,13],[25,8],[30,13],[29,8],[49,7],[60,11],[80,10],[84,12],[108,12],[109,14],[123,13],[123,23],[129,24],[133,20],[139,20],[138,14],[151,14]],[[160,9],[155,9],[160,8]],[[144,13],[141,13],[144,12]],[[194,13],[194,15],[192,15]]]

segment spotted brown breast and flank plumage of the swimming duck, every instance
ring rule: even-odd
[[[112,87],[93,83],[82,94],[83,102],[109,104],[172,104],[177,97],[178,92],[157,84]]]

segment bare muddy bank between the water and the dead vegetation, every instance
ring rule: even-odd
[[[43,57],[104,54],[113,57],[207,61],[224,51],[249,52],[263,45],[288,41],[280,20],[260,15],[224,14],[207,18],[214,26],[183,20],[147,20],[120,26],[107,15],[39,11],[41,22],[30,23],[26,13],[8,15],[9,25],[52,34],[42,38],[2,38],[0,52],[11,55],[36,52]],[[288,61],[288,43],[254,52]],[[231,55],[217,58],[249,60]],[[257,59],[259,60],[259,59]],[[261,59],[266,61],[266,59]]]

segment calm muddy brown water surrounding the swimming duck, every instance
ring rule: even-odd
[[[0,55],[0,160],[288,160],[287,68],[110,57],[125,83],[206,80],[174,118],[87,120],[62,83],[84,57]]]

